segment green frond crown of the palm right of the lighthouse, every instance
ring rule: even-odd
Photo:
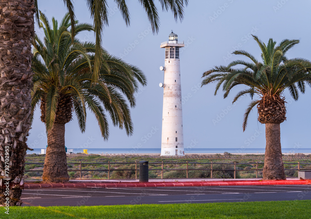
[[[234,51],[233,54],[246,56],[254,63],[235,60],[228,66],[214,66],[203,73],[201,87],[216,82],[214,94],[216,95],[222,85],[224,98],[226,98],[234,87],[246,86],[246,89],[236,94],[233,103],[246,94],[249,94],[251,99],[255,94],[261,98],[273,96],[273,98],[283,99],[281,95],[285,89],[289,89],[290,95],[297,100],[299,91],[304,93],[305,85],[311,86],[311,62],[303,58],[288,59],[285,53],[299,43],[299,40],[285,39],[276,46],[276,42],[270,38],[266,46],[257,36],[253,38],[261,49],[261,62],[246,51]],[[244,67],[239,68],[236,67],[237,65]],[[258,101],[252,101],[248,106],[244,114],[243,131],[246,128],[250,111],[258,103]]]

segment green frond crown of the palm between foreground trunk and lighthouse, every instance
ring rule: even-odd
[[[33,42],[35,55],[32,69],[35,75],[32,112],[44,99],[46,109],[43,116],[48,131],[53,127],[59,99],[69,96],[72,102],[71,110],[77,116],[81,132],[86,129],[86,107],[88,107],[95,114],[105,140],[109,136],[106,113],[110,115],[114,126],[125,129],[127,135],[132,135],[133,125],[129,106],[135,106],[135,93],[140,84],[146,85],[146,76],[141,69],[110,55],[100,47],[100,74],[97,83],[93,83],[96,45],[93,42],[78,40],[72,30],[68,30],[71,26],[68,17],[66,14],[60,24],[53,19],[51,29],[45,15],[41,13],[45,37],[41,41],[36,36]],[[93,29],[92,25],[80,24],[77,21],[75,25],[76,34]]]

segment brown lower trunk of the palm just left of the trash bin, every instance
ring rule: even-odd
[[[65,123],[54,123],[48,131],[48,147],[44,160],[44,182],[67,182],[67,157],[65,151]]]

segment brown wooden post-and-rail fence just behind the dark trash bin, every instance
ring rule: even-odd
[[[25,163],[25,165],[31,165],[31,164],[36,164],[36,165],[44,165],[44,163]],[[76,170],[67,170],[67,172],[80,172],[80,179],[82,178],[82,172],[88,172],[88,171],[107,171],[108,172],[108,179],[110,179],[110,172],[111,171],[124,171],[124,170],[133,170],[135,171],[135,179],[137,179],[137,171],[139,171],[139,166],[137,165],[137,161],[135,163],[129,163],[129,162],[106,162],[106,163],[82,163],[81,161],[79,163],[67,163],[68,165],[72,165],[72,164],[79,164],[79,169]],[[82,165],[84,164],[108,164],[108,169],[82,169]],[[114,169],[111,168],[111,165],[114,164],[135,164],[135,169]],[[149,163],[149,165],[156,165],[156,164],[161,164],[161,168],[160,169],[149,169],[151,171],[161,171],[161,179],[163,179],[163,173],[164,171],[169,171],[169,170],[184,170],[186,171],[187,174],[187,178],[188,178],[188,172],[189,170],[205,170],[205,171],[211,171],[211,178],[213,178],[213,171],[234,171],[234,179],[236,178],[236,172],[237,171],[256,171],[256,178],[258,178],[258,170],[263,170],[258,168],[259,164],[264,164],[264,163],[199,163],[199,162],[152,162]],[[185,169],[166,169],[164,168],[164,164],[186,164],[186,168]],[[189,164],[211,164],[211,168],[210,169],[193,169],[193,168],[189,168]],[[214,169],[213,165],[216,164],[228,164],[228,165],[234,165],[234,169]],[[245,165],[245,164],[256,164],[256,168],[255,169],[247,169],[247,170],[240,170],[237,167],[239,165]],[[300,165],[311,165],[311,163],[284,163],[284,165],[288,165],[288,164],[298,164],[298,169],[284,169],[284,170],[311,170],[311,169],[301,169]],[[26,170],[25,172],[43,172],[43,170]]]

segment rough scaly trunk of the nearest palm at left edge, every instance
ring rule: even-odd
[[[19,205],[30,129],[34,0],[0,0],[0,206]],[[5,149],[8,148],[8,155]],[[5,176],[5,156],[9,156]],[[9,194],[4,183],[9,179]]]

